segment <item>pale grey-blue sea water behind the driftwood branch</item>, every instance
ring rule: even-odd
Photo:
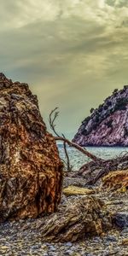
[[[65,159],[65,153],[62,144],[58,144],[59,154],[61,159]],[[119,155],[128,153],[128,147],[86,147],[86,149],[95,154],[97,157],[100,157],[104,160],[115,158]],[[86,162],[90,161],[86,155],[79,152],[79,150],[75,148],[71,148],[67,146],[67,153],[70,158],[70,163],[73,166],[73,170],[79,170],[79,167],[84,165]]]

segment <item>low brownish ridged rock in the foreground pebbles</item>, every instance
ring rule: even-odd
[[[46,223],[46,224],[45,224]],[[104,203],[94,196],[71,199],[66,208],[53,213],[40,225],[43,241],[78,241],[84,236],[101,235],[112,227]]]

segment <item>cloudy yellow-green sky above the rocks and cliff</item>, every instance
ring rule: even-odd
[[[28,83],[49,129],[72,139],[81,121],[128,84],[127,0],[1,0],[0,72]]]

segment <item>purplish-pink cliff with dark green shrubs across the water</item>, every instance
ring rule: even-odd
[[[91,109],[73,138],[81,146],[128,146],[128,85]]]

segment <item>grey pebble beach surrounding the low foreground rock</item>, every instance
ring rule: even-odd
[[[77,181],[79,188],[84,187],[84,178]],[[75,178],[64,177],[63,188],[69,185],[76,185]],[[81,184],[81,186],[80,186]],[[92,186],[96,189],[96,186]],[[86,195],[69,195],[62,193],[61,204],[58,211],[65,209],[69,202],[73,202],[75,198],[79,200]],[[102,193],[97,192],[93,195],[104,201],[109,212],[128,212],[127,192],[117,194],[113,192]],[[53,213],[54,214],[54,213]],[[127,245],[125,241],[128,239],[128,227],[114,227],[108,230],[102,236],[86,236],[84,239],[71,242],[49,242],[43,241],[42,229],[48,217],[26,219],[13,222],[5,222],[0,224],[0,255],[5,256],[107,256],[118,255],[126,256]]]

